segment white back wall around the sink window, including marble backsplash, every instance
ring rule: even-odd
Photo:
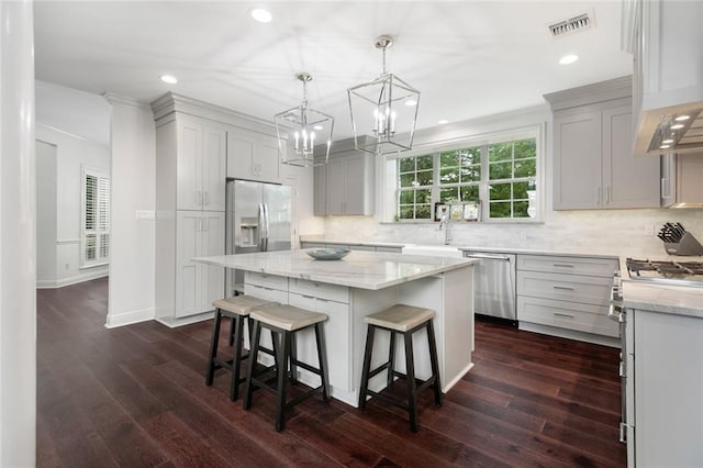
[[[545,152],[538,188],[544,190],[540,223],[454,223],[450,244],[457,246],[536,248],[544,250],[592,252],[593,254],[661,256],[661,241],[655,236],[667,221],[681,222],[703,241],[703,210],[577,210],[554,211],[551,113],[538,107],[486,119],[460,122],[419,132],[416,145],[444,142],[470,135],[504,131],[524,125],[546,127]],[[380,165],[379,165],[380,167]],[[380,172],[378,172],[380,174]],[[378,177],[380,179],[380,177]],[[703,180],[701,181],[703,183]],[[384,190],[377,180],[377,200]],[[391,193],[392,196],[392,193]],[[381,202],[377,203],[380,214]],[[444,232],[437,223],[381,223],[373,216],[326,216],[325,237],[330,239],[383,241],[414,244],[440,244]]]

